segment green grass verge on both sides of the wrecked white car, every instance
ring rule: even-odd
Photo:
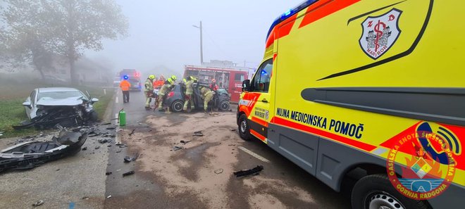
[[[92,98],[97,98],[99,101],[94,103],[94,109],[99,114],[99,119],[102,119],[106,110],[106,107],[111,102],[113,98],[113,89],[109,89],[104,94],[104,90],[101,87],[75,87],[80,89],[84,94],[86,91],[89,92]],[[30,90],[32,91],[32,89]],[[27,96],[25,96],[27,97]],[[27,135],[35,135],[41,132],[34,128],[15,130],[12,125],[19,125],[20,122],[24,120],[29,120],[26,116],[25,108],[23,102],[25,98],[11,98],[11,99],[1,99],[0,101],[0,132],[4,132],[3,136],[0,138],[7,137],[23,137]]]

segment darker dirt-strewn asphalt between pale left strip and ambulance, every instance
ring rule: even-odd
[[[131,92],[130,103],[117,95],[113,113],[124,108],[127,114],[119,133],[128,148],[109,148],[106,170],[113,175],[106,179],[106,196],[112,197],[105,208],[350,208],[347,191],[333,191],[259,140],[240,139],[231,131],[237,129],[234,111],[159,113],[144,110],[142,92]],[[205,136],[192,137],[199,130]],[[123,163],[135,153],[140,158]],[[233,176],[257,165],[264,167],[259,175]],[[129,170],[135,175],[121,176]]]

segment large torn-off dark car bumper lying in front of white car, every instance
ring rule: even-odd
[[[51,141],[26,141],[0,151],[0,172],[37,167],[81,151],[87,128],[61,129]]]

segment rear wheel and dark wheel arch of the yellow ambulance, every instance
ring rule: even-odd
[[[387,175],[368,175],[359,179],[352,189],[352,208],[380,208],[381,205],[392,209],[430,208],[425,201],[416,201],[400,194]]]

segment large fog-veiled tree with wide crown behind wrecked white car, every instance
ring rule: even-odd
[[[128,35],[128,20],[113,0],[5,1],[8,7],[3,16],[7,26],[2,32],[8,39],[18,41],[7,42],[7,48],[25,44],[18,49],[32,54],[30,60],[34,65],[37,53],[32,51],[64,56],[74,84],[79,80],[75,61],[85,49],[99,51],[104,49],[103,39]],[[46,63],[46,58],[41,56],[37,63]]]

